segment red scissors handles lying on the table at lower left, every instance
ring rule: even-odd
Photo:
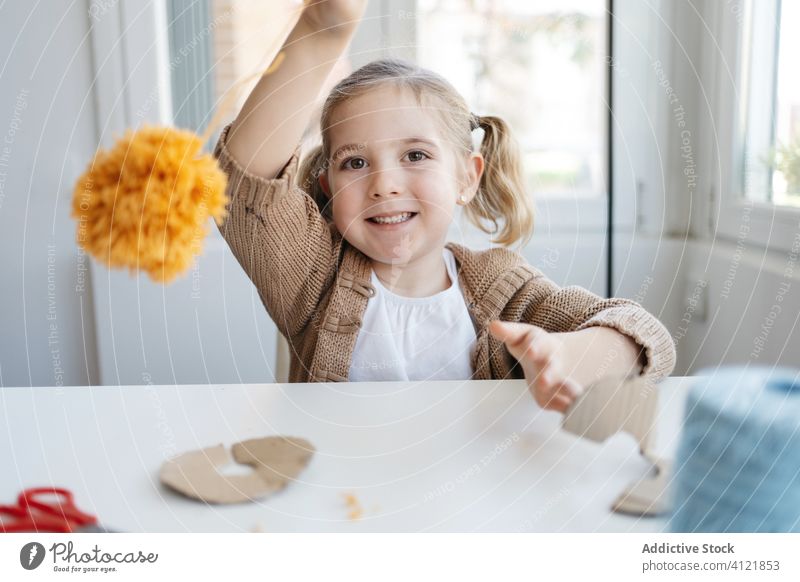
[[[56,499],[42,499],[55,496]],[[75,506],[74,496],[60,487],[26,489],[19,494],[17,505],[0,505],[0,515],[11,518],[10,523],[0,521],[5,532],[47,531],[69,533],[97,523],[97,518]]]

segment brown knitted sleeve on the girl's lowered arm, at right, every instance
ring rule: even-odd
[[[530,301],[522,321],[552,332],[611,327],[644,349],[647,362],[642,375],[657,381],[675,368],[672,336],[638,303],[629,299],[603,299],[577,286],[561,288],[544,276],[532,279],[526,287]]]

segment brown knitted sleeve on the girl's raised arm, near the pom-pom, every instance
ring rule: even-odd
[[[275,179],[248,172],[227,148],[223,129],[214,155],[228,175],[228,216],[219,229],[270,317],[287,337],[301,331],[335,274],[330,228],[295,184],[299,147]]]

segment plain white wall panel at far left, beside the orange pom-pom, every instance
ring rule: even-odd
[[[83,2],[0,7],[2,386],[98,380],[91,285],[69,218],[96,143],[87,33]]]

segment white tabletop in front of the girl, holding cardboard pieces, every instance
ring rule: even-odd
[[[656,448],[677,446],[692,378],[659,386]],[[560,429],[523,381],[2,388],[0,501],[71,489],[109,529],[660,531],[610,511],[648,468],[633,439]],[[220,506],[158,481],[176,454],[268,435],[317,449],[285,490]],[[348,517],[345,494],[363,508]]]

